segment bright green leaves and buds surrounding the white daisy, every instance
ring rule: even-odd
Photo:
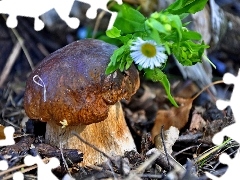
[[[115,40],[119,48],[114,51],[106,74],[118,69],[124,71],[131,66],[134,59],[130,56],[130,47],[138,37],[155,41],[157,45],[166,49],[167,55],[174,55],[184,66],[201,62],[203,52],[208,46],[202,41],[201,35],[188,30],[188,22],[183,23],[182,20],[189,13],[202,10],[206,2],[207,0],[177,0],[164,11],[154,12],[148,18],[129,5],[118,6],[119,12],[114,27],[106,31],[106,35]],[[167,76],[161,70],[163,68],[144,69],[138,65],[138,69],[145,72],[146,78],[162,83],[169,100],[177,106],[171,96]]]

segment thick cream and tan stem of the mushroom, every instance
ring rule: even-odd
[[[103,163],[106,157],[73,136],[72,131],[109,156],[123,155],[125,151],[136,150],[120,102],[110,106],[108,117],[99,123],[65,128],[56,127],[54,123],[47,123],[45,138],[48,143],[59,147],[62,142],[64,148],[81,150],[83,152],[81,165],[83,166]]]

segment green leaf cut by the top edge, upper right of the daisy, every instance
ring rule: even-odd
[[[208,0],[176,0],[165,11],[172,14],[196,13],[201,11]]]

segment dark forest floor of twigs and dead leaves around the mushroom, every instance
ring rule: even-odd
[[[14,172],[27,169],[22,166],[23,158],[27,154],[33,155],[31,144],[38,148],[41,157],[60,156],[57,148],[44,143],[45,124],[31,123],[24,112],[25,82],[33,68],[31,66],[35,67],[47,54],[79,39],[80,30],[59,27],[59,30],[51,31],[45,28],[36,32],[31,20],[19,18],[18,27],[13,31],[6,27],[4,18],[0,17],[0,32],[0,72],[5,72],[6,75],[0,87],[0,124],[3,127],[11,125],[15,128],[16,141],[15,145],[0,148],[0,160],[7,157],[10,169],[8,172],[0,171],[0,179],[11,179]],[[19,38],[24,40],[25,52],[13,51]],[[26,58],[26,52],[31,61]],[[6,65],[11,60],[10,56],[13,56],[14,62],[9,69]],[[222,65],[221,70],[213,70],[213,82],[221,80],[226,72],[237,75],[240,61],[237,62],[231,54],[217,50],[210,56]],[[130,102],[122,101],[125,119],[137,146],[137,152],[128,152],[124,157],[129,161],[126,166],[130,168],[130,172],[115,164],[79,167],[75,163],[66,168],[60,159],[61,167],[53,170],[54,174],[62,178],[70,172],[76,179],[164,179],[171,172],[176,179],[192,180],[207,179],[204,174],[206,171],[218,176],[224,174],[227,166],[219,163],[219,155],[222,152],[234,155],[239,145],[226,139],[222,147],[212,150],[216,147],[212,143],[213,135],[234,123],[231,109],[220,111],[215,103],[217,99],[229,99],[232,86],[217,84],[214,86],[217,94],[213,95],[206,90],[191,100],[203,88],[200,88],[197,82],[183,79],[172,59],[169,60],[165,72],[170,79],[173,96],[184,98],[178,101],[182,104],[179,110],[171,108],[160,84],[147,81],[141,74],[141,85],[137,93]],[[161,113],[170,117],[161,118]],[[27,121],[29,123],[25,125]],[[176,142],[172,144],[171,157],[160,156],[149,161],[151,152],[160,146],[162,132],[159,127],[163,121],[178,121],[184,126],[179,130]],[[39,128],[40,126],[43,128]],[[176,132],[173,130],[171,133]],[[153,139],[152,134],[156,134],[158,138]],[[3,139],[1,126],[0,139]],[[48,154],[49,149],[56,154]],[[143,168],[142,164],[147,167]],[[25,179],[37,179],[36,173],[36,166],[32,166],[24,173]]]

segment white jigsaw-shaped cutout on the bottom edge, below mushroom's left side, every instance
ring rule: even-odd
[[[56,157],[50,158],[49,162],[45,164],[39,155],[37,156],[27,155],[24,158],[24,163],[27,166],[32,166],[34,164],[37,164],[38,180],[46,180],[46,179],[58,180],[58,178],[52,173],[52,169],[60,166],[60,162]]]

